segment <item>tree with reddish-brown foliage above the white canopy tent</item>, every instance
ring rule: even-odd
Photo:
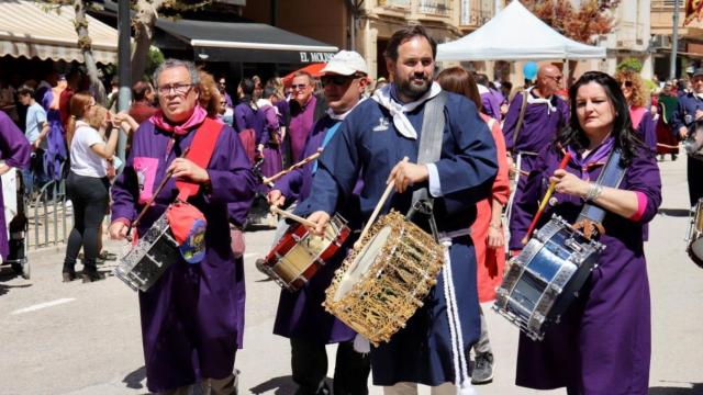
[[[614,19],[607,11],[616,9],[620,0],[583,0],[578,9],[570,0],[524,0],[523,4],[565,36],[593,44],[594,37],[613,30]]]

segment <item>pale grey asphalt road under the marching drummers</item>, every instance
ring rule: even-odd
[[[652,303],[651,395],[703,394],[703,269],[685,255],[685,158],[660,163],[663,203],[646,246]],[[292,394],[286,339],[271,335],[279,287],[257,272],[272,232],[247,233],[246,330],[237,353],[243,394]],[[111,251],[122,246],[110,241]],[[60,282],[63,248],[31,255],[32,279],[0,271],[0,394],[146,394],[136,294],[120,280]],[[105,264],[102,270],[114,267]],[[488,306],[487,306],[488,307]],[[486,308],[496,370],[480,394],[514,386],[517,330]],[[328,347],[328,353],[334,347]],[[331,359],[330,376],[334,359]],[[371,394],[381,394],[371,387]],[[421,393],[428,393],[422,388]],[[547,392],[563,394],[565,391]]]

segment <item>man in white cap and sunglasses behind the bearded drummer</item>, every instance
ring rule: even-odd
[[[366,61],[356,52],[342,50],[334,55],[322,70],[322,86],[330,109],[312,127],[303,157],[324,148],[337,134],[342,121],[364,101],[369,83]],[[270,204],[282,205],[290,200],[303,201],[310,195],[315,161],[291,171],[276,181],[268,194]],[[354,214],[358,216],[358,214]],[[334,372],[335,394],[368,394],[367,382],[370,359],[354,350],[356,332],[322,307],[325,289],[346,253],[338,252],[334,262],[315,273],[303,289],[295,293],[281,291],[274,334],[287,337],[291,345],[293,381],[297,394],[328,394],[327,353],[325,345],[339,343]]]

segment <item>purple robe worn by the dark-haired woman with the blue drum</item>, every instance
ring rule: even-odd
[[[661,203],[659,169],[647,148],[627,167],[620,189],[641,192],[647,198],[639,221],[606,213],[606,248],[579,297],[561,321],[549,327],[543,341],[520,336],[516,384],[539,390],[567,386],[574,394],[646,394],[650,359],[649,283],[643,245],[643,225],[651,221]],[[511,224],[511,249],[522,248],[529,222],[537,211],[561,154],[548,147],[535,161],[527,187],[516,202]],[[567,171],[581,178],[573,165]],[[589,172],[595,180],[602,167]],[[555,193],[555,206],[547,206],[542,226],[553,214],[573,223],[581,211],[580,198]]]

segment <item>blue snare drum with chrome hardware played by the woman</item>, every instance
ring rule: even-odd
[[[555,215],[511,260],[493,309],[533,340],[573,302],[605,249]]]

